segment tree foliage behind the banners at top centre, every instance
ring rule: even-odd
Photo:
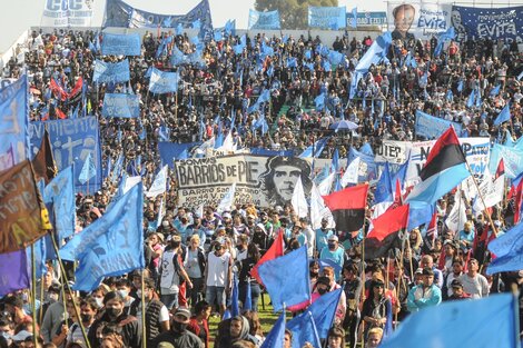
[[[279,11],[282,29],[307,29],[308,7],[337,7],[338,0],[256,0],[257,11]]]

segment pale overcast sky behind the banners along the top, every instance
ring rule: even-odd
[[[23,30],[40,24],[43,4],[47,0],[14,0],[9,1],[0,11],[0,52],[4,52],[20,37]],[[184,14],[193,9],[199,0],[126,0],[130,6],[140,10],[165,14]],[[247,27],[249,9],[254,9],[254,0],[209,0],[213,24],[223,27],[228,19],[236,19],[237,28]],[[93,0],[95,14],[92,26],[101,24],[105,0]],[[355,6],[358,11],[385,11],[383,0],[339,0],[339,6],[346,6],[347,11]]]

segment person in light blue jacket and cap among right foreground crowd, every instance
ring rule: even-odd
[[[434,271],[425,267],[422,272],[423,281],[408,291],[407,308],[409,312],[422,308],[437,306],[442,302],[442,290],[434,284]]]

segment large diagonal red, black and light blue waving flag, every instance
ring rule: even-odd
[[[465,155],[454,128],[451,127],[431,149],[420,173],[421,181],[411,191],[406,201],[424,201],[433,205],[470,175]]]

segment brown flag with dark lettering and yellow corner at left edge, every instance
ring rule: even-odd
[[[0,172],[0,253],[26,248],[51,229],[29,160]],[[7,189],[9,188],[9,189]]]

